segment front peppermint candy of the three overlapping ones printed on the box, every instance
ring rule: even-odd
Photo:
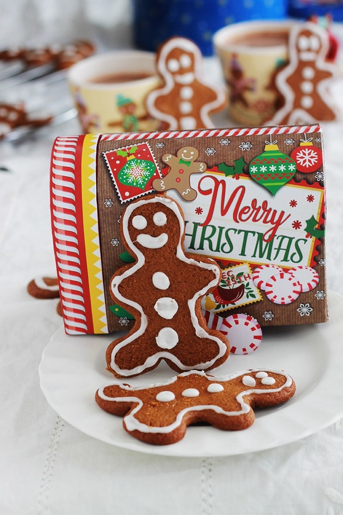
[[[291,304],[301,294],[301,286],[291,273],[280,272],[270,277],[265,286],[265,294],[275,304]]]

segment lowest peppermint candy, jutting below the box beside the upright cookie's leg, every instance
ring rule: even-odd
[[[250,354],[262,341],[262,330],[255,318],[243,313],[223,319],[221,332],[228,337],[232,354]]]

